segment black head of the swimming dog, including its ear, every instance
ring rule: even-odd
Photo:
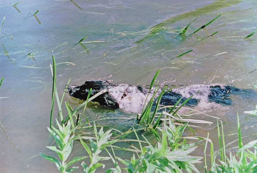
[[[69,89],[69,94],[72,97],[87,100],[87,96],[89,94],[90,89],[92,88],[92,92],[90,97],[102,91],[103,89],[110,89],[113,84],[108,81],[86,81],[85,84],[80,86],[71,86]],[[108,93],[104,93],[93,99],[92,101],[98,102],[102,106],[108,106],[112,108],[119,108],[119,104],[112,98]]]

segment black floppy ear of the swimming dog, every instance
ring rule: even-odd
[[[112,98],[109,94],[102,94],[99,95],[97,98],[93,99],[92,101],[98,102],[101,106],[107,106],[113,109],[119,109],[119,103]]]

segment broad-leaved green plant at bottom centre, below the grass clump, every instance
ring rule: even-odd
[[[169,131],[163,132],[163,138],[161,142],[158,142],[156,146],[153,146],[148,140],[147,146],[142,147],[142,144],[137,136],[137,140],[140,143],[141,154],[138,158],[133,155],[131,160],[123,160],[119,157],[118,160],[126,166],[127,172],[181,172],[186,170],[187,172],[199,172],[195,167],[196,163],[201,163],[202,157],[190,156],[197,146],[189,146],[187,149],[183,147],[172,149],[169,147],[174,143],[172,139],[176,129],[169,128]],[[167,137],[168,136],[168,137]],[[175,137],[176,138],[176,137]],[[180,136],[181,139],[181,136]],[[168,143],[170,141],[170,143]]]

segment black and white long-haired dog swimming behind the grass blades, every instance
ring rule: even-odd
[[[128,87],[129,86],[129,87]],[[141,86],[131,86],[126,84],[120,84],[116,86],[108,81],[86,81],[81,86],[71,86],[69,94],[72,97],[86,100],[89,94],[90,88],[92,92],[90,97],[98,92],[106,89],[107,92],[99,95],[92,101],[98,102],[101,106],[107,106],[113,109],[122,109],[125,112],[142,112],[143,105],[147,98],[152,98],[155,87],[149,89],[143,89]],[[216,102],[219,104],[231,105],[232,100],[228,98],[231,94],[239,94],[244,92],[242,89],[235,88],[233,86],[222,85],[190,85],[183,88],[183,90],[168,91],[162,96],[160,104],[165,106],[174,105],[180,98],[181,103],[187,98],[192,98],[187,102],[187,106],[194,106],[200,103]],[[156,97],[160,94],[157,92]]]

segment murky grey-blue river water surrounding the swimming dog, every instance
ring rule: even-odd
[[[54,164],[38,156],[39,152],[50,152],[46,149],[49,145],[46,127],[51,111],[51,55],[57,61],[59,95],[69,78],[72,84],[105,79],[144,85],[151,82],[159,68],[162,69],[159,74],[161,84],[225,83],[252,88],[257,83],[256,35],[244,38],[256,29],[255,1],[73,2],[23,0],[16,5],[18,10],[5,7],[16,1],[0,2],[0,21],[6,17],[0,32],[0,77],[4,77],[0,97],[9,97],[0,99],[3,126],[0,172],[57,172]],[[36,10],[39,10],[37,17],[32,16]],[[203,30],[192,37],[176,34],[181,31],[175,30],[182,29],[196,17],[198,19],[187,33],[218,14],[222,16],[206,27],[210,34],[218,31],[213,37],[203,39],[207,36]],[[158,35],[148,36],[149,28],[155,25],[167,28]],[[88,36],[85,43],[75,45],[84,36]],[[134,43],[143,38],[141,43]],[[190,49],[193,51],[174,58]],[[210,104],[203,111],[227,122],[224,132],[228,135],[236,133],[238,111],[242,136],[248,136],[244,143],[256,139],[257,118],[245,115],[243,111],[253,110],[257,98],[234,95],[232,99],[231,106]],[[64,101],[73,107],[79,104],[68,94]],[[120,110],[95,108],[95,104],[90,104],[87,113],[92,119],[135,117]],[[214,122],[203,125],[204,130],[195,131],[198,136],[206,136],[209,132],[214,146],[218,146],[214,130],[216,120],[204,115],[196,117]],[[99,123],[128,129],[134,121]],[[226,136],[226,142],[236,138],[236,135]],[[80,151],[81,148],[75,149],[75,153]],[[202,155],[203,149],[197,151]],[[120,155],[125,154],[121,152]],[[203,165],[199,165],[199,169],[202,170]]]

